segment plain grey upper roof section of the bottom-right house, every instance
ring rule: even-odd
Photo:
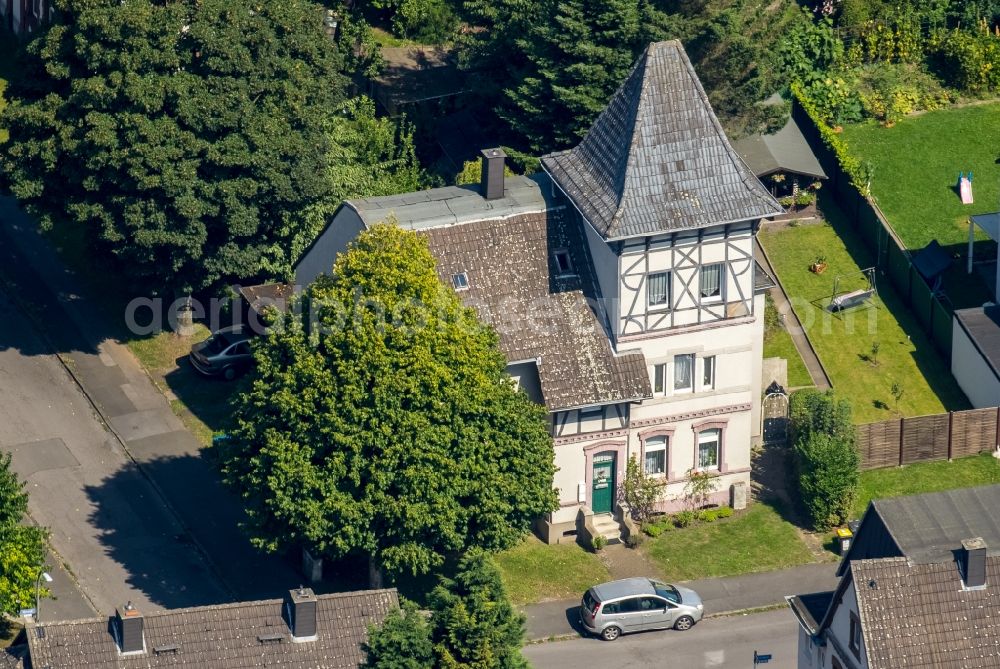
[[[989,555],[1000,555],[1000,517],[996,514],[1000,485],[876,499],[872,509],[903,556],[913,563],[951,560],[962,540],[970,537],[982,537]]]

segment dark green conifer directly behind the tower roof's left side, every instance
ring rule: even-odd
[[[527,62],[500,110],[536,151],[576,144],[639,53],[662,36],[646,0],[558,0],[546,10],[514,42]]]

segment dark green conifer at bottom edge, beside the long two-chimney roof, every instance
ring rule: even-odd
[[[454,578],[430,596],[438,667],[526,669],[521,655],[524,616],[507,597],[500,569],[483,551],[462,558]]]

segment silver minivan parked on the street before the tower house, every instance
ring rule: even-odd
[[[580,603],[583,626],[605,641],[645,630],[688,630],[704,614],[705,606],[694,590],[651,578],[595,585]]]

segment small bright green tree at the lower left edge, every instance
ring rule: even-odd
[[[10,453],[0,453],[0,613],[16,616],[21,609],[34,606],[48,532],[24,524],[28,494],[11,471],[10,461]]]

